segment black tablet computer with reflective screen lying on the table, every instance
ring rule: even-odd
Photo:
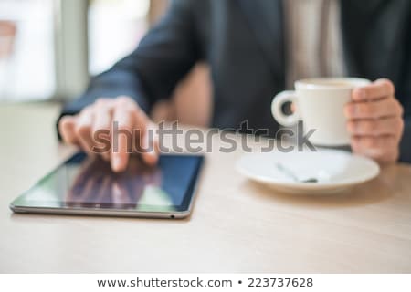
[[[156,166],[131,156],[127,170],[74,154],[10,204],[16,213],[184,218],[191,213],[204,157],[161,155]]]

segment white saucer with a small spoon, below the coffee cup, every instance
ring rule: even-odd
[[[317,150],[249,153],[237,162],[249,179],[285,193],[335,193],[372,180],[378,164],[347,151]],[[314,183],[302,183],[309,179]]]

